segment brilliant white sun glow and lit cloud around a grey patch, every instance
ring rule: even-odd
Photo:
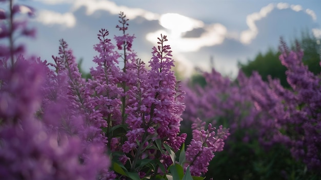
[[[227,29],[221,24],[205,25],[203,21],[177,13],[160,15],[159,25],[165,29],[151,32],[146,39],[153,42],[159,34],[166,34],[171,39],[171,47],[178,52],[195,52],[202,47],[214,46],[224,41]],[[184,37],[185,33],[202,28],[204,33],[198,37]]]

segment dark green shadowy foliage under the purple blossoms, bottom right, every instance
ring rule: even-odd
[[[234,137],[243,137],[240,136],[242,131],[239,130]],[[242,139],[228,141],[227,147],[215,154],[208,168],[206,179],[320,179],[307,172],[306,166],[294,160],[290,150],[283,145],[265,150],[257,140],[247,143]]]

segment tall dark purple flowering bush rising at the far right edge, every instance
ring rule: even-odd
[[[254,79],[266,87],[252,96],[257,108],[265,112],[263,126],[273,132],[270,131],[269,136],[265,132],[263,137],[269,137],[265,140],[270,144],[285,144],[296,160],[303,161],[309,170],[317,170],[321,167],[320,77],[303,64],[303,51],[298,44],[295,51],[290,51],[281,40],[280,51],[279,59],[288,69],[286,75],[291,89],[283,88],[278,80],[271,78],[268,84],[250,78],[252,87],[257,84]],[[263,98],[266,96],[262,93],[269,94],[269,98]]]

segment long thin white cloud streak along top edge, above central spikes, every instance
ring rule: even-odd
[[[87,15],[93,14],[97,10],[108,11],[111,14],[119,14],[121,11],[126,13],[126,17],[134,19],[137,16],[146,18],[147,20],[157,20],[159,15],[153,12],[146,11],[140,8],[129,8],[126,6],[118,6],[116,3],[111,1],[98,1],[98,0],[76,0],[73,4],[73,10],[81,7],[86,7]]]

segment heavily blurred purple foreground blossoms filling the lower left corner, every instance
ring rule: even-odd
[[[7,60],[3,57],[1,61],[0,77],[0,177],[98,177],[99,171],[108,168],[104,147],[98,143],[85,144],[80,136],[68,133],[82,127],[81,117],[68,114],[60,106],[63,103],[46,101],[46,107],[42,106],[47,96],[43,90],[49,80],[43,63],[23,56],[18,56],[14,64]],[[82,129],[86,132],[91,127]]]

